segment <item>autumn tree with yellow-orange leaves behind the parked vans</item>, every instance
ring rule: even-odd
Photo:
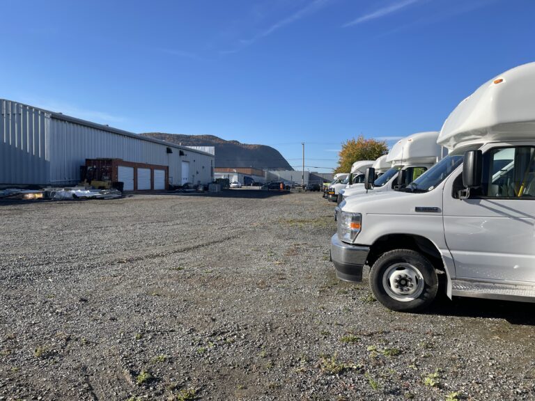
[[[387,143],[376,139],[365,139],[359,136],[357,139],[348,139],[342,143],[342,150],[339,152],[338,167],[334,173],[349,173],[353,163],[359,160],[375,160],[388,153]]]

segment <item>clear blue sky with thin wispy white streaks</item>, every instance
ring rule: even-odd
[[[132,132],[274,146],[439,130],[535,61],[534,0],[0,0],[0,97]],[[318,168],[323,167],[323,168]]]

